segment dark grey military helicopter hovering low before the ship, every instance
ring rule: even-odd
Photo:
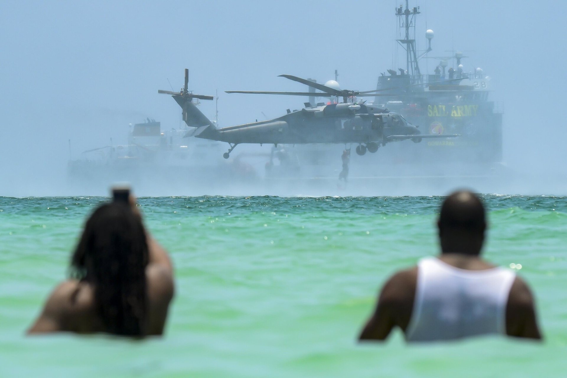
[[[229,143],[229,151],[223,154],[228,159],[230,152],[243,143],[254,143],[263,145],[273,144],[311,144],[311,143],[356,143],[358,155],[366,154],[366,151],[376,152],[380,145],[386,146],[388,142],[404,141],[411,139],[415,143],[421,142],[423,138],[452,138],[456,134],[422,135],[400,114],[391,113],[388,109],[379,108],[365,101],[357,103],[356,97],[376,96],[377,91],[350,91],[340,90],[311,82],[310,80],[295,77],[293,75],[280,75],[281,77],[306,84],[322,92],[317,92],[318,97],[342,97],[342,103],[311,104],[304,103],[305,108],[301,111],[290,111],[284,116],[272,120],[251,122],[243,125],[227,126],[217,129],[197,107],[192,99],[212,100],[213,96],[196,95],[187,90],[188,70],[185,69],[185,86],[179,92],[162,91],[160,94],[172,95],[174,100],[182,109],[183,120],[187,126],[196,128],[186,136],[211,139]],[[338,84],[338,83],[337,83]],[[227,93],[246,94],[273,94],[289,96],[314,96],[313,92],[268,92],[268,91],[227,91]],[[349,102],[349,99],[352,101]]]

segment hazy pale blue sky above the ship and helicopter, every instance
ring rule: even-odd
[[[396,60],[400,1],[0,1],[0,195],[14,182],[64,171],[74,155],[125,142],[145,117],[179,126],[180,109],[158,89],[219,91],[219,124],[277,117],[304,97],[226,90],[304,91],[280,74],[371,90]],[[565,3],[419,1],[418,48],[464,50],[504,102],[505,160],[565,173]],[[427,25],[426,25],[427,24]],[[400,55],[400,62],[404,61]],[[436,61],[422,60],[432,73]],[[214,118],[214,102],[201,105]],[[10,184],[11,182],[11,184]],[[31,182],[31,181],[29,181]],[[11,186],[10,186],[11,185]]]

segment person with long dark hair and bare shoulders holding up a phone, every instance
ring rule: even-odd
[[[173,294],[170,258],[143,227],[133,199],[106,203],[87,220],[70,278],[28,333],[160,335]]]

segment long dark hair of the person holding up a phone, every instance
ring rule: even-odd
[[[94,287],[105,332],[143,336],[148,246],[142,220],[126,203],[100,206],[84,226],[71,277]]]

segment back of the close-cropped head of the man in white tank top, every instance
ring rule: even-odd
[[[486,230],[483,202],[471,192],[452,193],[443,201],[438,226],[442,247],[444,241],[447,245],[447,248],[443,248],[444,252],[454,249],[452,252],[468,250],[468,253],[480,253]],[[474,247],[467,247],[471,239],[477,239],[480,244],[473,243]]]

